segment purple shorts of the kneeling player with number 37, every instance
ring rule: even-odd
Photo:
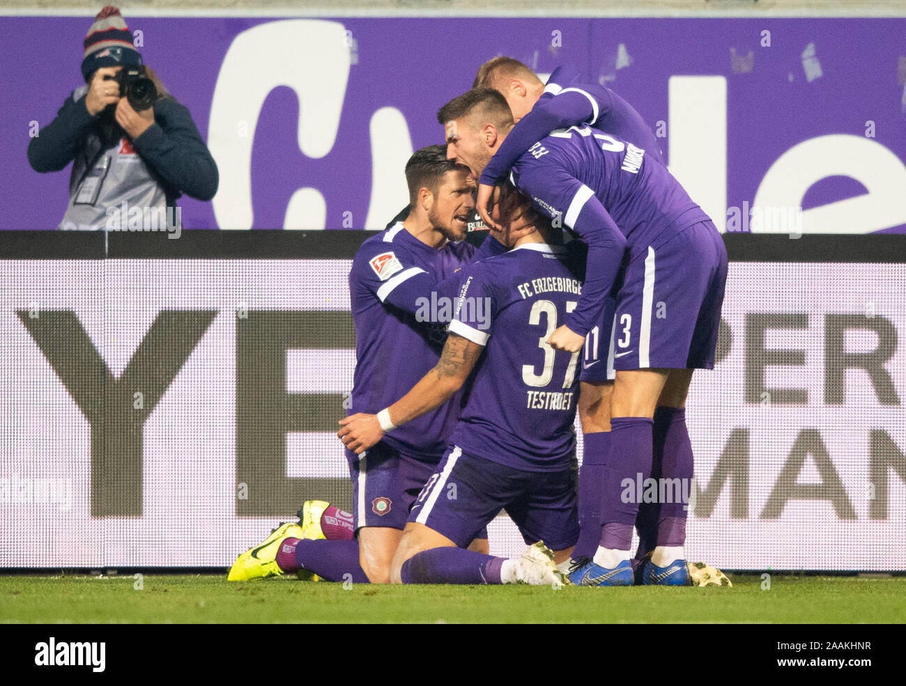
[[[527,545],[543,540],[552,550],[564,550],[579,538],[576,500],[573,469],[525,472],[453,446],[412,505],[409,520],[466,548],[506,509]]]

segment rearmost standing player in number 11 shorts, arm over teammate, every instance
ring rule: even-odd
[[[506,98],[516,126],[491,157],[481,173],[477,210],[485,224],[492,225],[489,204],[496,183],[509,176],[516,164],[535,141],[555,129],[568,129],[583,123],[622,140],[631,140],[644,148],[648,159],[663,163],[657,138],[648,124],[629,102],[617,93],[596,83],[585,84],[580,74],[568,65],[554,70],[543,83],[522,62],[510,57],[495,57],[478,69],[472,88],[493,88]],[[499,228],[499,227],[496,227]],[[622,278],[618,276],[614,288]],[[600,497],[603,488],[604,459],[608,453],[611,431],[611,393],[615,376],[612,360],[608,363],[608,341],[613,328],[615,300],[606,300],[601,321],[595,323],[586,338],[582,372],[579,376],[579,420],[583,432],[583,462],[579,478],[579,521],[582,536],[576,543],[576,557],[592,557],[600,537]],[[657,418],[660,414],[655,415]],[[655,426],[655,437],[660,436]],[[655,451],[659,446],[655,444]],[[651,552],[651,532],[644,524],[653,507],[641,503],[637,528],[642,545],[638,557]]]

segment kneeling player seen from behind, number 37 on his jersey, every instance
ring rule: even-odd
[[[564,247],[552,244],[562,232],[540,217],[537,227],[512,251],[464,270],[440,360],[409,393],[378,414],[341,422],[347,449],[371,450],[442,406],[475,370],[448,452],[410,511],[393,582],[564,583],[556,564],[569,560],[579,534],[573,469],[579,354],[556,352],[546,339],[576,306],[582,274]],[[502,509],[529,544],[525,555],[467,550]]]

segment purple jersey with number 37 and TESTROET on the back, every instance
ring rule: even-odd
[[[545,341],[582,294],[575,262],[529,243],[464,270],[449,330],[486,350],[450,439],[463,453],[528,472],[572,463],[580,354]]]

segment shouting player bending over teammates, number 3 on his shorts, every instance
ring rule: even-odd
[[[476,176],[515,126],[506,100],[490,89],[451,100],[438,119],[447,132],[448,156]],[[616,378],[601,538],[593,560],[571,574],[583,585],[633,582],[629,551],[639,503],[634,495],[625,497],[625,483],[651,475],[657,407],[663,408],[661,415],[670,414],[659,422],[668,434],[662,444],[670,450],[663,450],[653,469],[691,479],[683,408],[692,370],[714,365],[727,278],[727,252],[714,224],[666,167],[646,164],[645,154],[630,141],[573,127],[536,141],[511,175],[537,208],[588,245],[583,295],[548,338],[554,348],[582,349],[628,251],[612,329]],[[641,581],[687,584],[684,503],[660,503],[657,517],[656,545]]]

